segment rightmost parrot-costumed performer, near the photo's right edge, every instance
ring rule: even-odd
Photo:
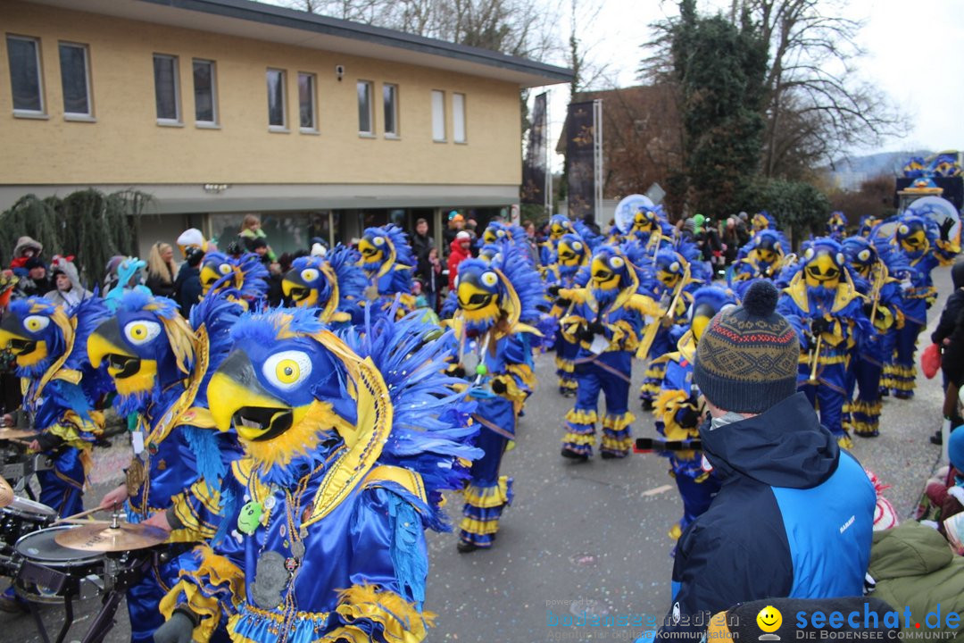
[[[910,283],[903,292],[904,325],[897,332],[894,362],[884,368],[885,386],[893,389],[897,398],[910,399],[914,396],[917,378],[914,362],[917,337],[927,325],[927,308],[937,299],[937,288],[930,273],[939,265],[950,264],[960,248],[950,240],[953,226],[950,219],[942,228],[938,228],[930,219],[911,212],[884,224],[890,222],[897,224],[891,236],[891,245],[904,255],[910,265]],[[873,236],[876,238],[879,233],[874,232]]]

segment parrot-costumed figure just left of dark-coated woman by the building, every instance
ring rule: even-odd
[[[415,255],[402,228],[389,224],[367,228],[359,241],[359,265],[367,276],[365,298],[378,310],[392,308],[396,315],[415,309],[412,271]],[[394,307],[398,296],[401,306]]]

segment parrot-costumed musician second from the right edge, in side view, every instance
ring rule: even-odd
[[[864,312],[871,323],[870,335],[858,337],[847,368],[850,402],[844,423],[850,425],[855,435],[873,438],[879,435],[880,377],[904,324],[899,277],[908,266],[903,256],[887,244],[878,247],[862,236],[848,237],[842,246],[846,262],[860,276],[857,286],[866,298]]]

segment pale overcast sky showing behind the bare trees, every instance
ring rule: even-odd
[[[579,4],[590,3],[580,0]],[[591,48],[592,57],[606,65],[617,86],[638,84],[639,45],[651,38],[648,25],[675,15],[677,3],[602,0],[601,4],[589,28],[580,31],[580,38]],[[728,0],[698,0],[701,12],[729,6]],[[854,153],[964,147],[964,56],[960,52],[964,0],[850,0],[845,11],[846,17],[866,21],[858,42],[867,56],[857,63],[857,72],[889,94],[912,119],[905,138],[892,138],[879,147],[855,149]],[[560,37],[565,39],[568,17],[562,22]],[[553,134],[557,136],[565,118],[568,88],[556,86],[550,95]]]

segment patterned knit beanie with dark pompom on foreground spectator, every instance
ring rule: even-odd
[[[800,345],[777,297],[769,281],[754,282],[743,306],[717,313],[700,337],[693,379],[713,406],[760,414],[796,392]]]

